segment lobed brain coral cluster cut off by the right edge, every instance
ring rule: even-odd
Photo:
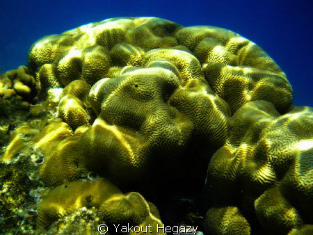
[[[214,203],[255,211],[271,232],[312,224],[312,120],[308,107],[294,107],[285,115],[265,101],[239,108],[226,144],[209,163],[207,184]]]

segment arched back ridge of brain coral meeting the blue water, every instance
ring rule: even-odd
[[[253,42],[226,29],[183,27],[154,17],[106,19],[48,35],[31,47],[29,67],[40,88],[65,86],[75,79],[92,85],[102,77],[118,75],[113,72],[118,67],[143,66],[155,55],[152,49],[160,49],[157,54],[165,60],[184,58],[184,54],[175,58],[175,51],[168,48],[182,49],[200,61],[205,79],[232,113],[258,99],[272,102],[280,113],[291,104],[292,89],[284,72]],[[183,77],[194,63],[184,65]]]

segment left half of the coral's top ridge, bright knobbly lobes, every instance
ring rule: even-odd
[[[92,84],[113,65],[141,65],[143,50],[176,46],[177,29],[177,24],[165,19],[145,17],[87,24],[33,44],[29,65],[43,84],[65,86],[74,79]]]

